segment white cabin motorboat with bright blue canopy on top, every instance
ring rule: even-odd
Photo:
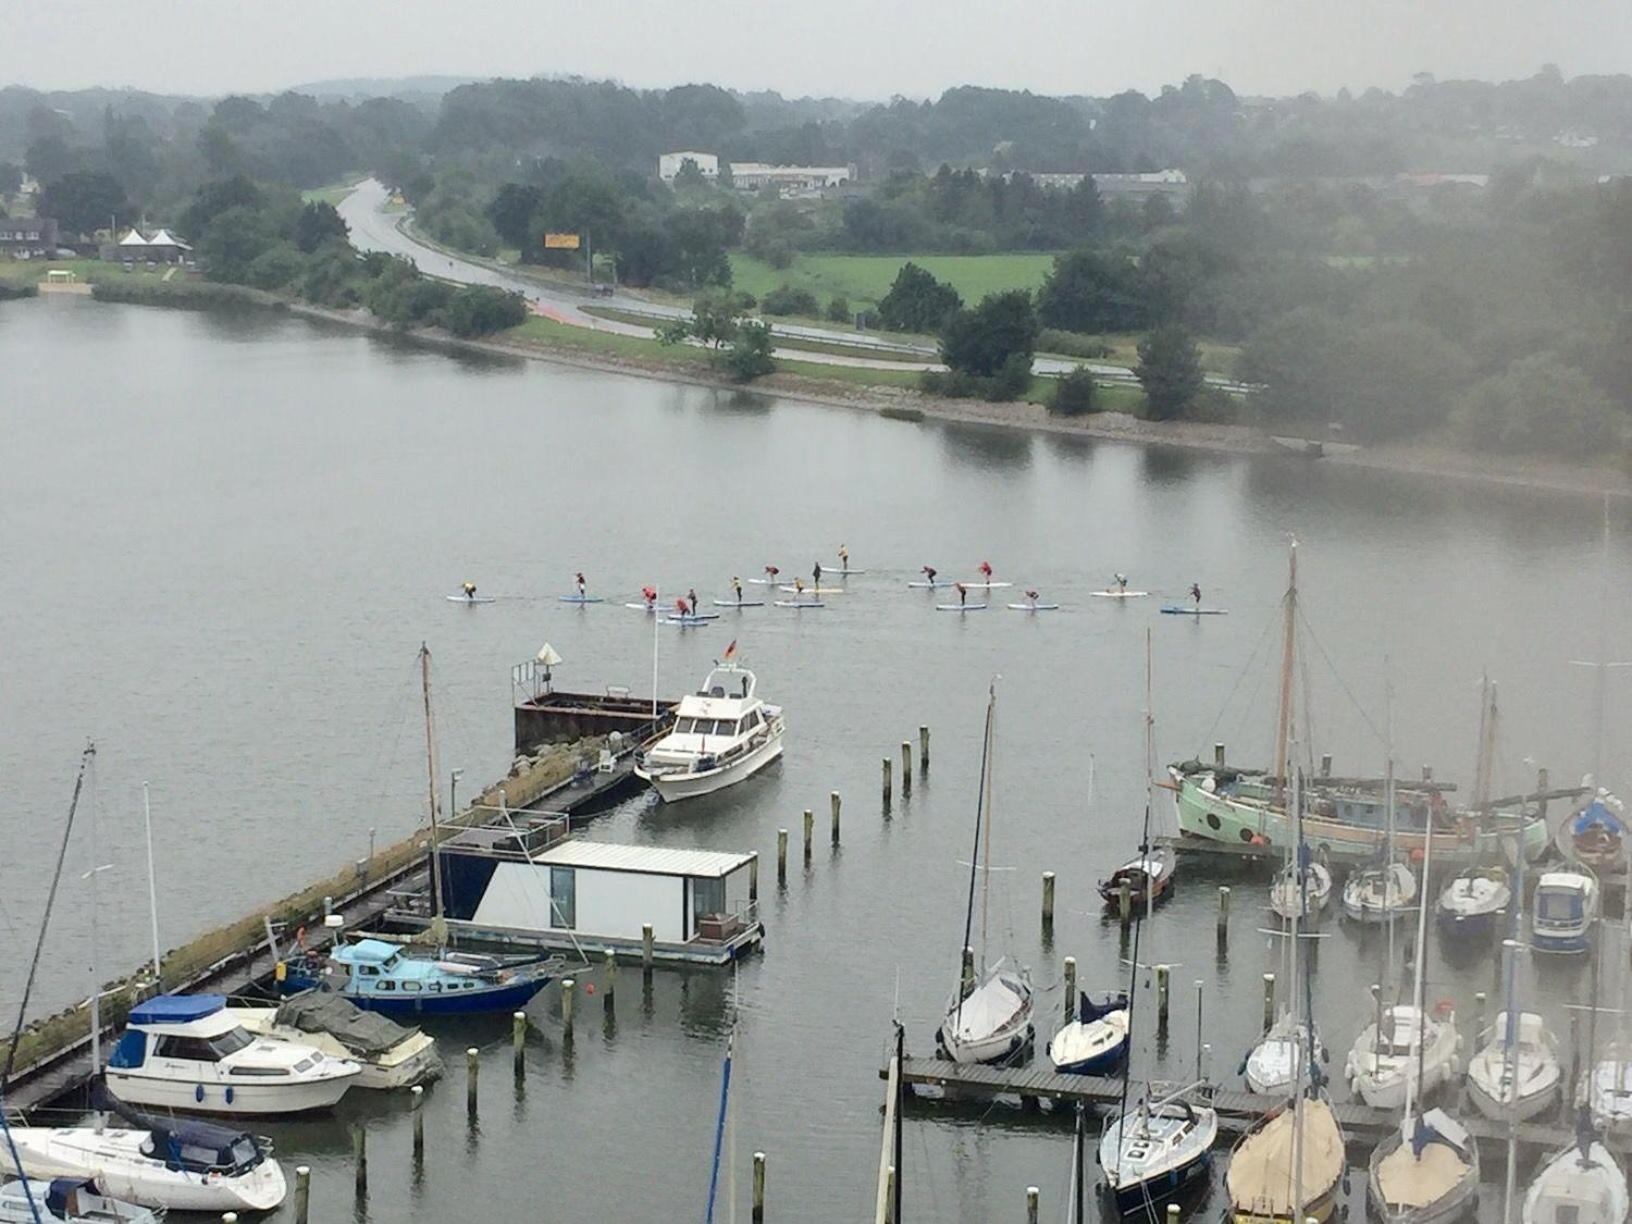
[[[331,1108],[361,1074],[349,1058],[251,1036],[219,994],[160,994],[131,1009],[104,1079],[129,1105],[269,1115]]]

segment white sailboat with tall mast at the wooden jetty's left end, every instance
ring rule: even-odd
[[[953,1062],[1023,1059],[1035,1038],[1031,981],[1023,968],[986,965],[987,911],[992,883],[992,744],[997,726],[997,685],[987,692],[986,738],[981,746],[981,785],[974,805],[974,849],[969,855],[969,899],[963,919],[963,969],[935,1043]],[[984,849],[981,834],[984,832]],[[981,893],[979,963],[969,945],[974,893]]]

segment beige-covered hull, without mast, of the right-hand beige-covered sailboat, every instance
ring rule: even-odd
[[[1479,1144],[1444,1110],[1407,1115],[1373,1149],[1366,1196],[1382,1224],[1443,1224],[1479,1193]]]

